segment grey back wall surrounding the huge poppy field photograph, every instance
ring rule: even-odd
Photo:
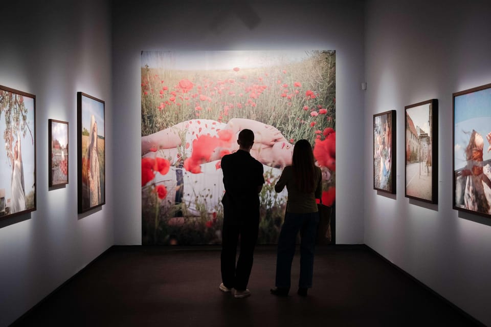
[[[116,3],[116,2],[115,2]],[[115,243],[141,244],[144,50],[336,50],[338,244],[363,243],[364,2],[118,1],[113,8]],[[353,202],[356,205],[353,205]]]

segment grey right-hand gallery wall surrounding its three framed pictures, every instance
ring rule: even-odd
[[[491,83],[488,1],[366,8],[365,243],[491,325],[491,220],[452,209],[452,93]],[[439,101],[438,204],[405,198],[406,105]],[[396,194],[373,190],[373,114],[397,111]]]

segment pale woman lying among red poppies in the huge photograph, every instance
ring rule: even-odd
[[[197,121],[203,122],[198,126]],[[192,124],[194,122],[194,125]],[[214,122],[218,125],[224,125]],[[152,150],[160,150],[164,157],[173,158],[178,153],[178,147],[182,146],[182,136],[189,128],[196,128],[196,133],[199,130],[212,127],[213,121],[206,119],[194,119],[192,121],[184,121],[173,125],[172,127],[160,130],[157,133],[142,137],[142,155]],[[237,139],[238,133],[242,129],[251,129],[255,135],[255,143],[251,149],[251,155],[259,162],[272,167],[284,167],[292,163],[293,145],[290,144],[281,134],[281,132],[271,126],[255,120],[245,118],[233,118],[222,129],[230,130]],[[219,127],[217,130],[220,129]],[[199,132],[205,134],[204,132]],[[219,160],[220,153],[223,150],[234,152],[238,149],[238,145],[231,142],[226,148],[217,148],[211,155],[210,161]]]

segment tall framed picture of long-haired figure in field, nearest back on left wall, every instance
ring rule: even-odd
[[[78,212],[105,204],[104,101],[77,92]]]

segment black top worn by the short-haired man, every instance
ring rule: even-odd
[[[249,152],[237,152],[221,158],[225,194],[224,223],[259,220],[258,186],[264,184],[263,166]]]

